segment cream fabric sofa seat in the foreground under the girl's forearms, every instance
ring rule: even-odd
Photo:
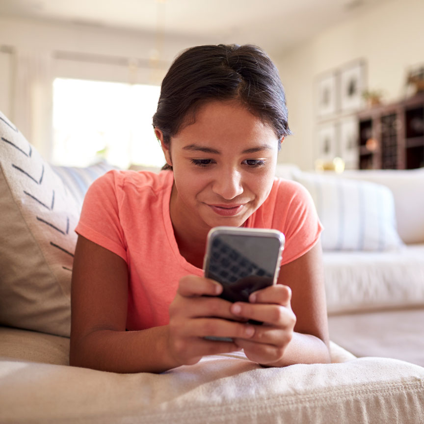
[[[23,344],[45,349],[47,339],[37,333],[27,339],[28,333],[0,328],[0,339],[15,352]],[[66,339],[49,336],[50,347],[55,339],[63,351]],[[48,365],[5,353],[13,356],[0,346],[1,423],[421,424],[424,416],[424,368],[355,359],[335,344],[328,365],[262,368],[237,352],[159,375]]]

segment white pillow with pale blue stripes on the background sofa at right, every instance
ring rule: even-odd
[[[319,219],[324,250],[394,250],[403,246],[396,229],[390,189],[367,181],[305,172],[294,179],[311,193]]]

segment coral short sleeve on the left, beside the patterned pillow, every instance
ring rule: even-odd
[[[119,218],[119,172],[109,171],[90,185],[75,232],[127,261]]]

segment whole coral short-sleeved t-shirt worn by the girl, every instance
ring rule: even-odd
[[[127,262],[128,330],[166,325],[180,278],[203,275],[178,250],[169,214],[173,182],[172,171],[109,171],[85,195],[75,231]],[[277,178],[245,227],[274,228],[285,235],[281,265],[310,250],[321,232],[308,191]]]

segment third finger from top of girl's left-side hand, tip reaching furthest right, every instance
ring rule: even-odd
[[[184,327],[179,329],[182,337],[229,337],[245,338],[252,337],[255,328],[251,324],[229,321],[219,318],[197,318],[185,322]]]

